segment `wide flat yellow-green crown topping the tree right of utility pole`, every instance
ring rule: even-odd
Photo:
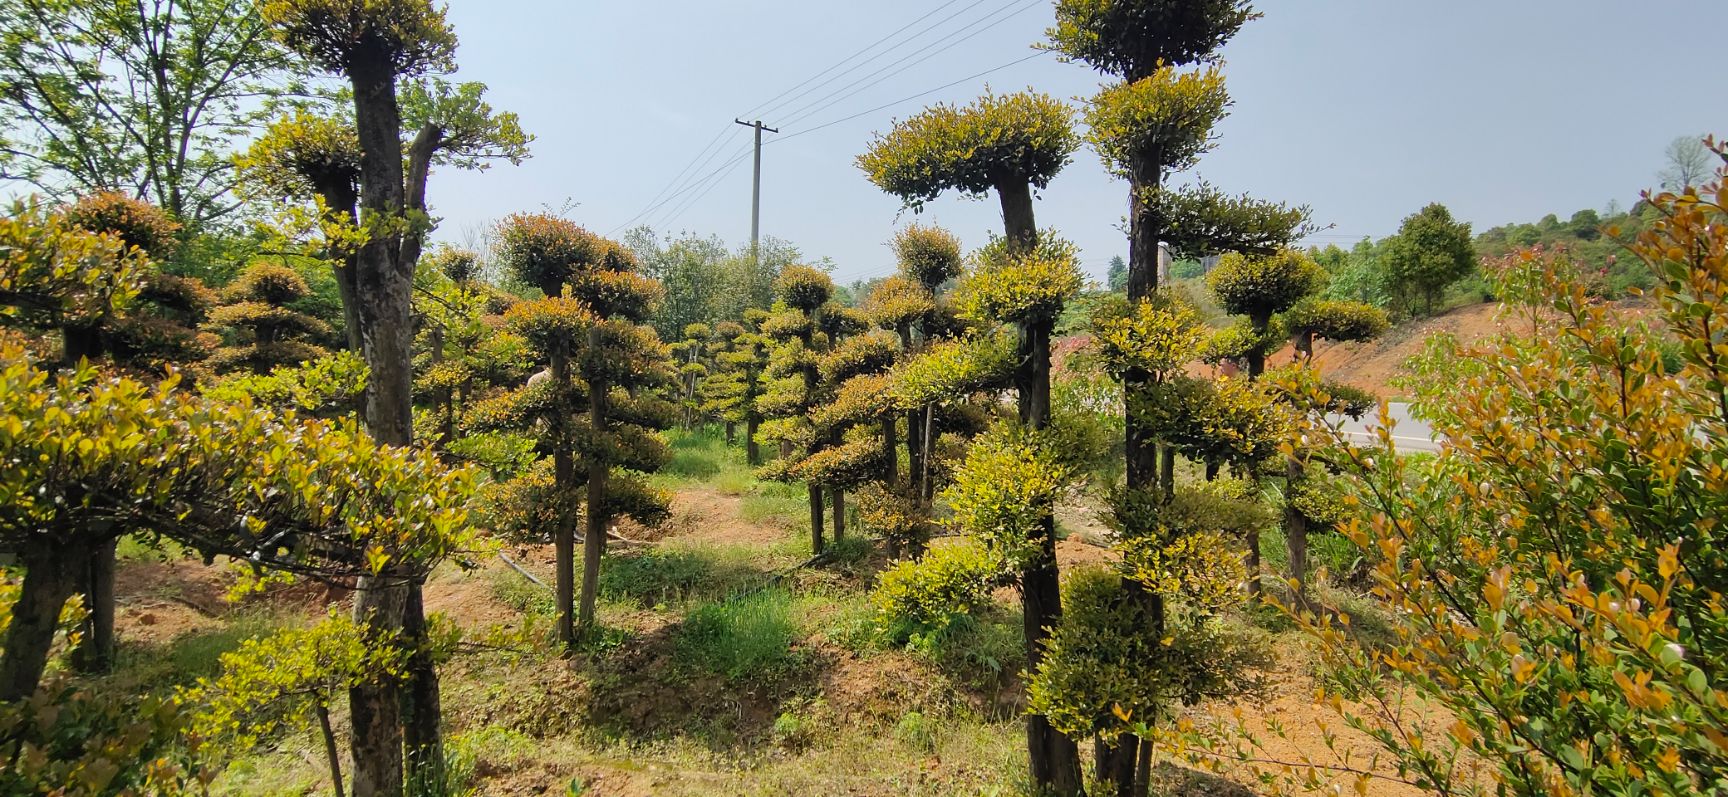
[[[933,105],[876,137],[857,164],[876,187],[923,207],[945,190],[983,195],[1002,182],[1049,185],[1080,147],[1073,109],[1035,92]]]

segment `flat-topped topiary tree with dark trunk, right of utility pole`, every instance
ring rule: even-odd
[[[947,190],[997,192],[1006,237],[980,258],[966,303],[968,315],[1020,330],[1021,365],[1014,386],[1020,420],[1030,432],[1049,424],[1049,335],[1063,301],[1080,287],[1073,249],[1047,237],[1040,244],[1032,207],[1032,190],[1047,187],[1080,143],[1071,119],[1073,111],[1049,95],[985,95],[964,107],[926,109],[895,124],[859,156],[859,168],[869,180],[912,209]],[[1042,510],[1047,513],[1049,507]],[[1025,531],[1032,550],[1021,560],[1020,586],[1026,659],[1037,667],[1047,628],[1061,617],[1054,520],[1045,517]],[[1032,714],[1026,745],[1032,778],[1040,788],[1080,792],[1080,754],[1073,740]]]

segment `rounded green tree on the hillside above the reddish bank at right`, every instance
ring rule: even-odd
[[[1405,216],[1398,235],[1386,240],[1381,268],[1403,313],[1414,315],[1419,301],[1424,313],[1433,313],[1446,289],[1476,270],[1471,223],[1453,221],[1439,202],[1429,204]]]

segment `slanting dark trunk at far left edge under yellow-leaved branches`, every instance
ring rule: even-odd
[[[41,685],[54,648],[60,609],[78,590],[88,552],[78,548],[24,550],[24,583],[12,603],[12,624],[0,657],[0,702],[26,700]]]

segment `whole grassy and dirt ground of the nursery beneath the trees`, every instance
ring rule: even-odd
[[[672,450],[660,475],[676,494],[672,519],[651,531],[620,524],[631,541],[613,539],[608,552],[601,633],[577,654],[560,655],[550,638],[548,546],[511,546],[427,581],[427,610],[472,640],[442,671],[456,794],[1023,794],[1025,657],[1009,590],[940,638],[892,645],[869,598],[885,565],[876,546],[840,541],[831,560],[800,567],[810,557],[800,491],[753,479],[743,450],[724,446],[717,429],[672,432]],[[1061,508],[1064,567],[1111,558],[1089,541],[1099,526],[1087,505],[1073,496]],[[1267,536],[1279,550],[1275,531]],[[219,655],[242,640],[309,624],[349,600],[289,586],[228,602],[230,583],[219,564],[124,546],[119,666],[92,688],[169,695],[214,676]],[[1313,704],[1313,662],[1289,624],[1274,609],[1229,622],[1268,652],[1255,664],[1256,688],[1192,716],[1242,723],[1282,754],[1317,745],[1315,723],[1337,721]],[[344,711],[332,709],[340,724]],[[1289,738],[1270,738],[1268,719]],[[1248,771],[1218,776],[1178,759],[1159,764],[1158,783],[1154,794],[1255,794]],[[213,783],[213,794],[232,795],[328,788],[311,724],[261,740]]]

